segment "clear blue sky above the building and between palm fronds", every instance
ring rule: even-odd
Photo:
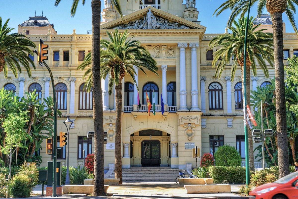
[[[18,24],[29,19],[29,16],[34,16],[35,10],[36,15],[41,15],[42,11],[44,12],[44,16],[49,19],[49,22],[54,23],[58,34],[71,34],[73,29],[76,29],[77,34],[87,34],[87,30],[92,29],[91,0],[86,0],[84,6],[80,1],[74,18],[70,17],[71,0],[62,0],[58,7],[54,6],[55,0],[0,0],[0,2],[2,20],[10,18],[9,27],[15,27],[15,31],[17,31]],[[197,0],[198,21],[207,27],[206,33],[224,33],[229,10],[219,17],[212,17],[213,12],[222,2],[224,0]],[[101,7],[104,8],[103,0]],[[251,15],[256,16],[256,7],[252,7]],[[298,20],[298,13],[295,18]],[[285,15],[283,15],[283,20],[286,24],[286,32],[293,33],[293,28]]]

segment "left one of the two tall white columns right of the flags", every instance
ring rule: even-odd
[[[186,71],[185,71],[185,48],[187,43],[178,43],[180,48],[180,107],[178,111],[188,111],[186,106]]]

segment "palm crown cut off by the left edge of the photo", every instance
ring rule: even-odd
[[[31,77],[31,69],[29,63],[32,64],[34,70],[34,61],[29,57],[33,55],[33,51],[29,47],[35,48],[35,44],[25,35],[19,33],[11,33],[14,28],[8,27],[8,21],[2,26],[2,18],[0,17],[0,72],[4,71],[4,77],[7,78],[8,67],[15,77],[18,77],[18,71],[21,73],[21,65],[27,70],[28,76]]]

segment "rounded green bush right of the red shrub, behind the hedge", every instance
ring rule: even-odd
[[[241,166],[242,158],[233,146],[220,146],[214,154],[216,166]]]

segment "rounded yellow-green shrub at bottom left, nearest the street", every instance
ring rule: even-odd
[[[30,178],[24,174],[18,174],[13,177],[8,185],[10,188],[10,195],[13,198],[28,198],[32,192],[33,187],[30,185]]]

